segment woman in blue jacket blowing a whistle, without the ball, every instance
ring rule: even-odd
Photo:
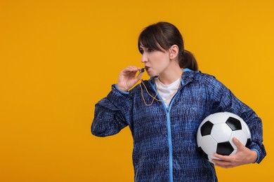
[[[139,67],[123,69],[110,94],[96,104],[91,127],[92,134],[105,137],[129,125],[135,181],[217,181],[214,165],[202,158],[196,144],[200,123],[216,112],[243,118],[252,142],[245,147],[234,139],[237,153],[216,154],[219,160],[212,162],[235,167],[263,160],[261,119],[214,76],[197,71],[197,62],[184,50],[174,25],[158,22],[146,27],[138,49],[150,80],[141,80]]]

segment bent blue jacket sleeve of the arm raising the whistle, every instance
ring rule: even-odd
[[[107,97],[95,106],[91,133],[97,137],[107,137],[117,134],[128,125],[125,113],[129,111],[129,92],[122,92],[112,85]],[[123,114],[124,113],[124,114]]]

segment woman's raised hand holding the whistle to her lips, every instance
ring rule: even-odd
[[[133,87],[133,85],[135,85],[138,82],[138,80],[141,79],[143,73],[139,73],[138,76],[136,76],[136,73],[140,69],[141,68],[136,66],[128,66],[125,69],[123,69],[119,73],[119,78],[117,83],[118,89],[124,92],[129,91],[129,89]]]

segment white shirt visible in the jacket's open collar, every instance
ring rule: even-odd
[[[164,102],[164,104],[167,106],[167,108],[169,107],[171,99],[174,97],[174,95],[178,91],[178,89],[177,89],[178,84],[181,85],[181,83],[179,83],[179,82],[181,82],[181,77],[178,78],[178,80],[174,81],[174,83],[164,85],[164,83],[162,83],[159,80],[159,78],[157,78],[157,77],[155,78],[156,89],[158,91],[159,96],[162,98],[162,102]],[[179,87],[180,87],[180,85],[179,85]]]

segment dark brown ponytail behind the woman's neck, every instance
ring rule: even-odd
[[[188,68],[193,71],[198,71],[198,63],[193,55],[188,50],[183,50],[183,56],[179,56],[179,65],[182,69]]]

